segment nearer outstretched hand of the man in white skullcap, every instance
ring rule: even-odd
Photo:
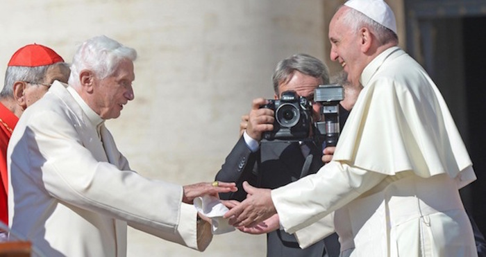
[[[277,213],[271,201],[270,189],[255,188],[246,181],[243,182],[243,188],[248,193],[246,199],[224,215],[224,218],[229,218],[229,224],[235,227],[255,227]]]

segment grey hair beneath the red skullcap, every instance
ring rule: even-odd
[[[0,98],[12,98],[13,97],[13,85],[16,81],[24,81],[35,83],[45,82],[45,76],[47,69],[51,66],[62,65],[69,68],[69,64],[65,62],[56,62],[54,64],[37,66],[37,67],[24,67],[24,66],[10,66],[7,67],[5,72],[5,81],[3,82],[3,89],[0,92]]]

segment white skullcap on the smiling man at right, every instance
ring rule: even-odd
[[[393,11],[383,0],[349,0],[344,6],[353,8],[396,34],[396,21]]]

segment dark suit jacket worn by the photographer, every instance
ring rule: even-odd
[[[341,127],[348,114],[349,112],[340,107]],[[218,181],[235,181],[238,190],[235,193],[221,193],[220,197],[223,200],[244,200],[246,192],[242,187],[243,181],[260,188],[273,189],[285,186],[305,175],[317,172],[324,164],[321,158],[321,147],[317,147],[313,141],[262,141],[258,151],[251,152],[242,136],[216,175]],[[277,230],[267,234],[269,257],[339,254],[340,245],[336,234],[305,249],[299,247],[294,235],[285,231]]]

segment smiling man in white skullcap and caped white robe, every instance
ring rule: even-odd
[[[364,87],[333,160],[274,190],[244,184],[248,197],[226,218],[240,229],[280,223],[301,247],[335,230],[342,256],[477,256],[458,193],[476,179],[469,154],[434,82],[397,47],[392,10],[347,1],[329,39],[331,60]]]

